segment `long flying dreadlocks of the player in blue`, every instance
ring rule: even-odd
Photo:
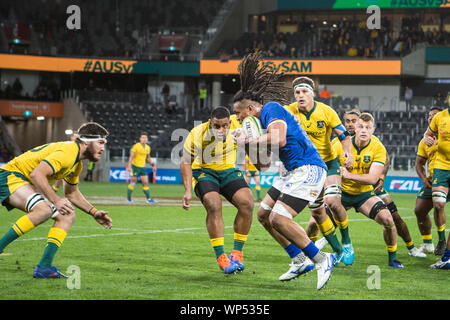
[[[244,99],[264,104],[267,101],[276,101],[282,105],[289,104],[291,88],[286,87],[281,81],[284,73],[269,65],[262,65],[262,53],[250,53],[242,59],[239,65],[241,89],[234,95],[233,102]]]

